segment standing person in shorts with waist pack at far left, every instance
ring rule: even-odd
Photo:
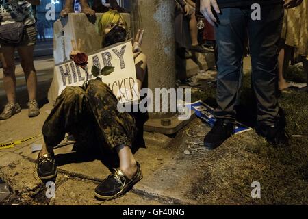
[[[1,52],[3,58],[3,83],[8,98],[3,112],[0,114],[0,120],[5,120],[14,114],[21,112],[21,107],[16,102],[16,77],[15,77],[15,58],[14,51],[17,49],[19,57],[21,57],[21,67],[25,73],[27,90],[29,94],[29,117],[38,116],[40,109],[36,101],[36,70],[34,68],[33,53],[36,44],[36,25],[35,18],[31,10],[31,5],[39,5],[40,0],[18,1],[18,0],[0,0],[1,3],[1,29],[10,25],[25,25],[25,32],[21,42],[12,43],[9,40],[0,39]],[[7,28],[8,30],[10,29]],[[7,31],[8,31],[7,30]]]

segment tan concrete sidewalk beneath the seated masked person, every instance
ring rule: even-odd
[[[51,105],[44,105],[41,114],[35,118],[27,117],[27,110],[22,110],[9,120],[0,121],[0,142],[11,142],[36,136],[51,110]],[[23,121],[23,123],[21,123]],[[139,149],[136,159],[142,166],[144,178],[133,190],[114,201],[98,201],[93,190],[110,171],[97,159],[79,157],[72,151],[73,144],[55,149],[58,163],[58,176],[55,182],[55,198],[47,198],[47,188],[40,182],[35,170],[38,152],[31,152],[32,144],[42,144],[42,136],[18,144],[12,149],[0,150],[0,177],[8,183],[14,195],[12,203],[34,205],[166,205],[190,204],[198,201],[188,194],[192,185],[198,183],[194,176],[194,165],[198,157],[185,155],[188,149],[185,132],[188,128],[200,125],[195,119],[182,129],[176,137],[171,138],[159,133],[144,133],[146,149]],[[202,131],[208,131],[205,126]],[[64,142],[65,143],[65,140]],[[15,197],[15,198],[14,198]]]

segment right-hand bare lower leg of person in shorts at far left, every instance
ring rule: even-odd
[[[36,70],[33,63],[34,46],[18,47],[17,49],[21,57],[21,67],[25,73],[29,101],[33,101],[36,99],[36,88],[38,83],[36,78]]]

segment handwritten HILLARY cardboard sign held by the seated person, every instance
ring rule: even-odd
[[[99,71],[105,66],[114,67],[114,71],[107,75],[100,74],[120,103],[127,103],[139,99],[136,79],[136,68],[133,60],[130,41],[120,42],[88,54],[86,66],[88,79],[94,79],[92,66]],[[86,81],[86,71],[77,66],[73,60],[57,64],[54,68],[53,83],[49,89],[49,101],[53,102],[66,86],[82,86]]]

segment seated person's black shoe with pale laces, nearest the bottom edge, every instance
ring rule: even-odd
[[[137,162],[137,172],[131,179],[128,179],[119,168],[114,168],[114,172],[109,175],[94,190],[94,195],[102,200],[118,198],[125,194],[127,190],[133,187],[142,179],[140,164]]]

